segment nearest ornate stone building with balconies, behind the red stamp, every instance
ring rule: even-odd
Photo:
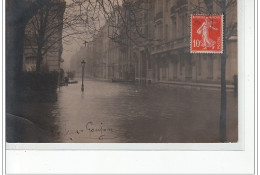
[[[218,5],[214,1],[201,0],[151,0],[149,3],[150,10],[143,15],[147,21],[144,25],[149,28],[148,35],[154,36],[157,41],[144,42],[143,48],[134,50],[136,80],[183,85],[203,83],[203,86],[210,84],[219,87],[221,55],[190,54],[190,14],[221,14]],[[231,26],[237,20],[236,5],[228,9],[227,13],[227,26]],[[234,83],[235,75],[236,30],[227,41],[228,85]]]

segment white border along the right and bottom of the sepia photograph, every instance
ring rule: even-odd
[[[235,144],[234,143],[227,143],[227,144],[100,144],[100,143],[98,144],[76,144],[76,143],[75,144],[74,143],[73,144],[68,144],[68,143],[6,144],[6,148],[7,148],[6,172],[8,174],[9,173],[12,174],[18,174],[18,173],[19,174],[20,173],[26,173],[26,174],[28,173],[253,174],[255,171],[254,168],[254,160],[255,160],[254,120],[255,118],[254,117],[256,117],[254,115],[254,107],[255,107],[254,106],[254,95],[255,95],[254,94],[254,88],[255,88],[254,73],[255,72],[253,69],[254,68],[254,47],[253,47],[254,46],[254,18],[252,18],[252,16],[254,16],[254,0],[247,0],[247,1],[238,0],[238,2],[239,2],[238,18],[240,21],[238,23],[238,35],[240,36],[238,42],[239,143],[237,144],[236,143]],[[247,27],[245,28],[244,26]],[[3,71],[3,73],[4,72],[5,70]],[[3,108],[3,112],[4,111],[5,110]],[[5,120],[3,121],[5,124]],[[5,127],[3,129],[5,130]],[[5,134],[5,132],[3,133]],[[243,133],[245,133],[244,136]],[[5,142],[5,136],[3,137],[3,139]],[[138,145],[141,147],[138,148]],[[110,146],[111,148],[109,148]],[[176,148],[179,150],[186,150],[186,151],[176,151],[176,148],[174,148],[174,146],[177,146],[178,148],[177,147]],[[189,146],[191,147],[188,148]],[[213,146],[214,148],[212,148]],[[56,149],[57,147],[59,147],[58,150]],[[160,147],[160,149],[156,149],[156,147]],[[199,149],[196,149],[196,147],[202,148],[203,151],[198,151]],[[107,148],[111,150],[108,151]],[[14,150],[10,150],[10,149],[14,149]],[[37,149],[41,149],[41,150],[37,150]],[[68,150],[63,150],[63,149],[68,149]],[[99,151],[93,151],[96,149],[98,149]],[[106,151],[104,151],[104,149],[106,149]],[[175,151],[173,151],[173,149]],[[197,151],[193,151],[193,150],[197,150]],[[215,151],[209,151],[209,150],[215,150]]]

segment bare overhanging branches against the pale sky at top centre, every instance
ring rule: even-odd
[[[142,15],[151,10],[149,0],[71,0],[69,6],[68,11],[77,20],[77,28],[74,27],[73,30],[80,30],[73,37],[82,42],[99,37],[105,24],[109,30],[108,37],[116,43],[127,45],[131,41],[138,45],[137,40],[140,39],[154,40],[142,30]],[[82,35],[83,31],[85,35]]]

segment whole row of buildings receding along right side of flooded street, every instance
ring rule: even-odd
[[[140,83],[220,87],[221,54],[190,53],[190,15],[221,14],[218,4],[204,0],[143,2],[146,10],[136,16],[140,17],[140,31],[147,37],[135,39],[138,45],[121,45],[108,38],[109,26],[105,25],[87,46],[88,60],[93,63],[88,74]],[[232,31],[226,33],[226,82],[232,89],[237,77],[236,4],[227,9],[227,14],[227,31]]]

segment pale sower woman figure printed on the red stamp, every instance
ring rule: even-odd
[[[216,42],[209,38],[209,28],[218,30],[217,28],[214,28],[212,25],[213,22],[209,20],[208,17],[206,17],[205,22],[202,23],[200,28],[198,28],[197,33],[202,34],[202,46],[204,49],[207,49],[207,47],[215,48]]]

